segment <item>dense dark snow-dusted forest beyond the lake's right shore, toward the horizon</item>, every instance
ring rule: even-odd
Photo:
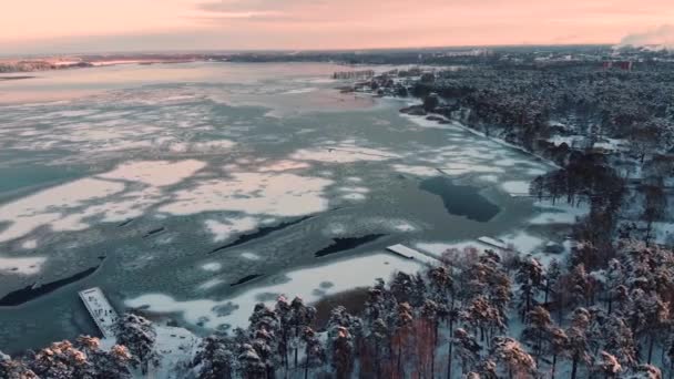
[[[387,75],[374,81],[377,89],[394,85]],[[477,65],[426,75],[409,92],[422,99],[435,93],[445,103],[433,112],[460,117],[530,151],[551,148],[544,141],[553,134],[585,135],[591,143],[629,140],[642,161],[674,146],[672,64],[634,72],[604,71],[595,62],[572,70],[556,64]]]

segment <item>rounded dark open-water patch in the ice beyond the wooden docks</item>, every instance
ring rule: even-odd
[[[419,188],[440,196],[445,208],[455,216],[487,223],[501,209],[480,195],[480,188],[470,185],[456,185],[449,178],[438,176],[425,180]]]

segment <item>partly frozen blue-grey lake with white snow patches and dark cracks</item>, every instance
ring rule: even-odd
[[[361,69],[361,68],[359,68]],[[316,300],[416,263],[397,243],[569,223],[509,192],[550,167],[330,64],[120,65],[0,83],[0,350],[94,332],[79,290],[195,331],[279,294]]]

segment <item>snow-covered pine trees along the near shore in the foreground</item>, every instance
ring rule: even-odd
[[[259,304],[247,329],[204,338],[191,378],[662,378],[674,372],[674,254],[622,240],[588,268],[474,248],[397,273],[368,290],[360,315],[316,310],[299,298]],[[156,335],[126,315],[109,351],[82,337],[6,357],[2,378],[129,378],[161,358]]]

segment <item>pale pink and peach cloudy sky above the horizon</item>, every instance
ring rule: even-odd
[[[674,20],[672,0],[21,0],[1,8],[0,54],[617,43]]]

